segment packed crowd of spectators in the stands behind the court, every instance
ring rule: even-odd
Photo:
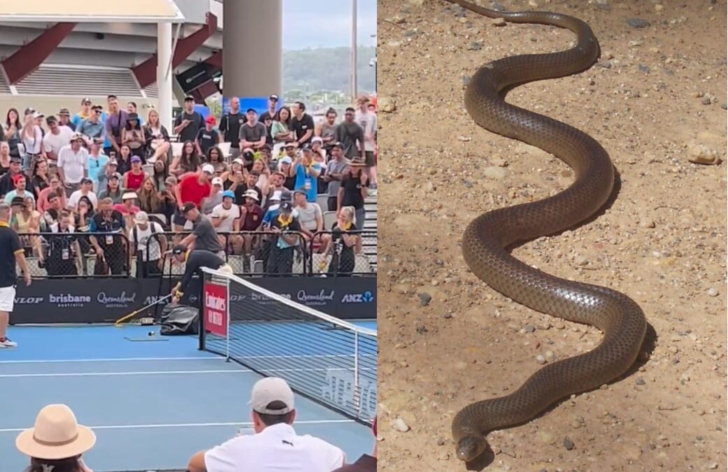
[[[332,256],[329,270],[352,272],[365,197],[376,192],[376,107],[363,95],[343,119],[329,109],[316,124],[299,101],[270,95],[268,105],[258,116],[232,98],[219,119],[205,118],[187,97],[172,130],[115,95],[84,98],[74,114],[9,109],[0,199],[26,255],[68,276],[85,271],[82,254],[95,257],[95,275],[121,275],[136,255],[143,275],[156,275],[167,242],[154,234],[173,232],[170,243],[242,256],[244,271],[262,260],[266,272],[290,272],[306,245]],[[325,212],[336,213],[331,227]]]

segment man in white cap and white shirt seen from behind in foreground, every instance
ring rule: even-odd
[[[189,460],[189,472],[331,472],[344,465],[344,451],[320,438],[293,430],[293,391],[284,379],[268,377],[250,396],[255,434],[237,436]]]

